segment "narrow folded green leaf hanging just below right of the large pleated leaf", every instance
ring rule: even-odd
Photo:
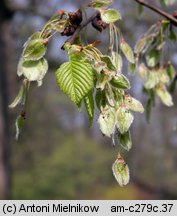
[[[90,125],[93,123],[94,118],[94,99],[93,99],[93,90],[90,91],[85,97],[84,97],[84,103],[86,107],[86,111],[88,114],[88,118],[90,121]]]

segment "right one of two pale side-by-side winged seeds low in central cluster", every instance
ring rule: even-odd
[[[132,113],[125,107],[119,107],[117,110],[117,127],[121,134],[125,134],[133,123]]]

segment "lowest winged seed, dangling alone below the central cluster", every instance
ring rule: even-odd
[[[112,171],[114,177],[121,187],[127,185],[130,181],[130,173],[128,165],[125,163],[124,159],[118,155],[118,158],[112,165]]]

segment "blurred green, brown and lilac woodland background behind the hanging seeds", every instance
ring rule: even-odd
[[[172,108],[156,101],[150,124],[146,123],[145,115],[135,115],[131,129],[133,148],[125,155],[131,181],[120,188],[111,170],[117,147],[113,148],[111,140],[102,137],[96,123],[98,113],[94,126],[89,128],[85,111],[79,113],[56,85],[54,72],[66,58],[60,49],[66,38],[60,35],[49,43],[50,70],[42,87],[32,85],[28,119],[19,142],[14,139],[14,122],[20,109],[9,110],[8,104],[21,84],[16,68],[24,42],[57,10],[74,11],[87,2],[0,2],[0,199],[176,199],[177,93]],[[148,2],[158,5],[158,1]],[[123,16],[119,27],[132,47],[160,19],[148,9],[139,15],[134,1],[115,0],[114,6]],[[177,4],[164,10],[173,12],[174,8]],[[101,38],[100,48],[104,52],[108,32],[101,35],[89,29],[88,40]],[[166,57],[177,68],[176,48],[176,44],[169,42]],[[131,94],[146,105],[139,78],[129,78]]]

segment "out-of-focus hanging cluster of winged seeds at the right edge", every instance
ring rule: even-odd
[[[143,82],[143,92],[149,97],[146,106],[148,121],[156,95],[166,106],[173,106],[170,93],[176,85],[176,72],[171,62],[165,63],[163,59],[167,40],[176,41],[176,35],[170,22],[162,20],[152,25],[135,46],[135,53],[140,61],[137,72]]]

